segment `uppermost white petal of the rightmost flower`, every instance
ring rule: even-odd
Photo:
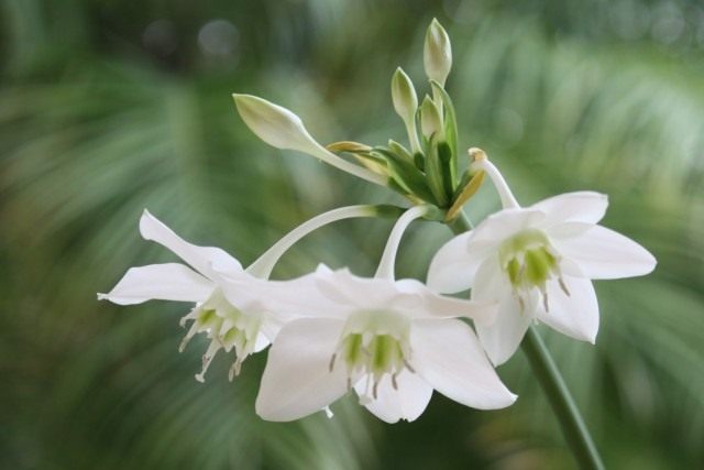
[[[530,206],[548,216],[544,225],[552,226],[561,222],[597,223],[606,214],[608,197],[605,194],[582,190],[566,193],[543,199]]]

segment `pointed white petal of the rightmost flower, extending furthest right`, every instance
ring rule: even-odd
[[[554,239],[554,248],[565,259],[579,264],[593,280],[613,280],[650,273],[657,264],[645,248],[605,227],[594,226],[584,234]]]

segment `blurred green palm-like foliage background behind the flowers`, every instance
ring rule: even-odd
[[[7,469],[570,469],[520,353],[520,395],[476,412],[436,394],[386,426],[346,398],[260,420],[264,356],[230,384],[188,306],[96,300],[131,265],[143,208],[244,263],[304,219],[395,196],[257,141],[230,94],[301,116],[321,142],[404,139],[389,80],[427,91],[422,37],[448,29],[463,146],[482,146],[524,204],[608,193],[605,225],[658,258],[597,283],[595,347],[541,329],[613,469],[704,468],[704,6],[700,1],[3,0],[0,14],[0,467]],[[496,210],[490,185],[473,199]],[[372,274],[388,220],[339,222],[283,260]],[[422,278],[450,234],[418,225],[398,273]]]

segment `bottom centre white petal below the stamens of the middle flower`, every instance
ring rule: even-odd
[[[376,398],[365,396],[370,392],[366,379],[359,381],[354,390],[358,395],[364,396],[364,400],[370,400],[364,405],[366,409],[386,423],[417,419],[430,402],[432,386],[406,369],[396,378],[396,384],[398,389],[394,389],[389,375],[384,375],[377,385]]]

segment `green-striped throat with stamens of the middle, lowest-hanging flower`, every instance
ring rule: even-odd
[[[378,384],[385,375],[398,390],[398,374],[404,369],[415,373],[409,363],[409,331],[408,318],[393,311],[353,314],[330,358],[330,372],[337,362],[343,362],[348,371],[348,389],[352,387],[353,380],[366,376],[362,400],[376,400]]]

